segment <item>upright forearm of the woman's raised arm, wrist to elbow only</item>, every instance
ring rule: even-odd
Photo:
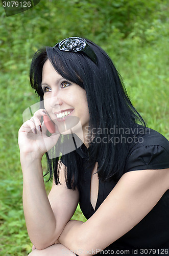
[[[24,160],[24,161],[23,161]],[[50,246],[57,239],[56,219],[47,198],[41,159],[21,157],[23,210],[29,237],[36,248]]]

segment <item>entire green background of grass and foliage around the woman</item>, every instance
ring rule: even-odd
[[[160,0],[102,2],[42,0],[33,9],[11,17],[6,17],[0,6],[2,256],[27,255],[32,247],[22,209],[17,136],[22,112],[38,101],[29,85],[29,67],[39,47],[54,45],[74,35],[99,44],[113,59],[133,105],[148,126],[169,139],[168,3]],[[45,159],[42,161],[45,171]],[[47,193],[50,187],[51,183],[46,183]],[[85,220],[79,207],[74,218]]]

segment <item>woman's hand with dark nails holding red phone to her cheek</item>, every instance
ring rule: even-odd
[[[30,120],[22,124],[18,133],[20,154],[42,158],[44,153],[57,143],[60,133],[56,131],[47,137],[44,122],[42,124],[40,122],[41,117],[46,115],[43,109],[39,109]],[[57,130],[57,126],[55,127]]]

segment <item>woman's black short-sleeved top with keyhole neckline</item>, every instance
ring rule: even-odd
[[[139,125],[139,129],[142,129],[142,126]],[[152,129],[146,131],[146,133],[139,133],[138,129],[135,131],[137,141],[133,141],[129,145],[124,173],[131,172],[132,170],[169,168],[168,140]],[[88,160],[87,147],[82,144],[76,151],[81,156],[83,166],[85,166],[85,162]],[[94,210],[90,202],[92,168],[84,167],[82,173],[84,182],[78,186],[80,208],[86,219],[89,219],[109,195],[117,180],[109,182],[99,180],[99,193]],[[130,249],[132,255],[132,249],[137,248],[169,248],[169,189],[146,217],[105,250]],[[138,252],[137,255],[139,255]]]

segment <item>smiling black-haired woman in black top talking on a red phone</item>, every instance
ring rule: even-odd
[[[111,59],[66,38],[35,54],[30,81],[44,106],[19,130],[29,255],[167,254],[169,142],[146,127]],[[48,197],[44,153],[54,175]],[[70,220],[78,202],[85,223]]]

